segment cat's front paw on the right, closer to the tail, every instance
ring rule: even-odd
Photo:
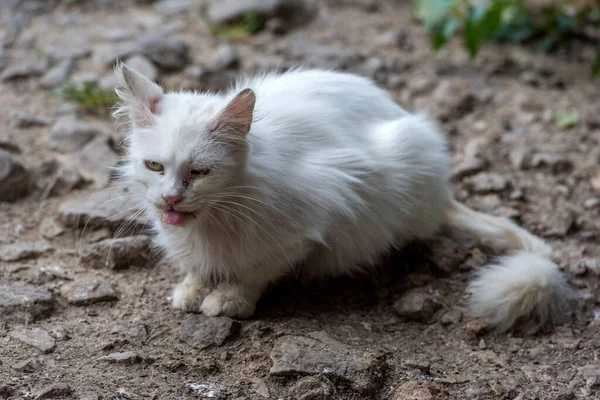
[[[219,285],[204,298],[200,310],[209,317],[248,318],[254,314],[255,303],[239,287]]]

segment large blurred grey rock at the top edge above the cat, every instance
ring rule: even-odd
[[[221,0],[212,2],[206,15],[212,25],[227,26],[250,12],[262,23],[277,18],[291,28],[309,22],[316,15],[316,8],[306,0]]]

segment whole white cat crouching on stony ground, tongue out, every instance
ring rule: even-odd
[[[284,275],[359,272],[446,228],[511,254],[470,284],[475,315],[509,329],[564,313],[569,286],[550,248],[454,200],[445,139],[368,79],[295,70],[225,94],[164,93],[124,65],[116,73],[116,114],[132,125],[123,179],[187,274],[174,307],[249,317]]]

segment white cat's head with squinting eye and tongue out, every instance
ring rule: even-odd
[[[116,115],[131,125],[122,175],[149,210],[179,225],[235,188],[245,164],[255,95],[165,93],[121,64]]]

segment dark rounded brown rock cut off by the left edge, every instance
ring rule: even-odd
[[[0,202],[15,202],[33,186],[29,171],[8,151],[0,149]]]

